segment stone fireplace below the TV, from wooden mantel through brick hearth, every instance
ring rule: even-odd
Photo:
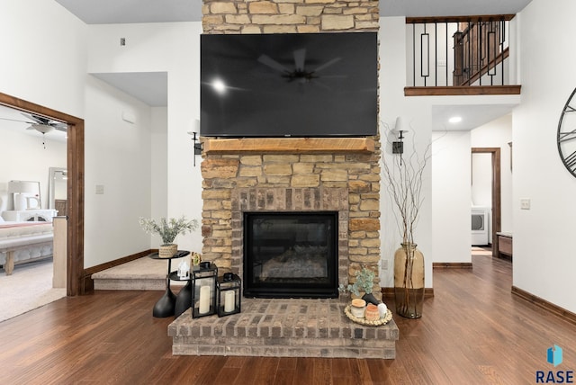
[[[353,281],[361,266],[377,271],[378,138],[207,139],[203,155],[203,259],[244,277],[247,214],[262,214],[257,220],[267,220],[268,214],[333,213],[338,221],[338,283]],[[316,228],[321,226],[316,223]],[[321,239],[311,246],[322,246]],[[280,255],[291,247],[306,246],[277,241],[274,251]],[[380,294],[377,281],[374,294]],[[168,327],[173,354],[396,356],[399,331],[393,319],[382,327],[365,326],[346,317],[347,300],[272,297],[243,298],[241,312],[229,317],[193,319],[187,310]]]

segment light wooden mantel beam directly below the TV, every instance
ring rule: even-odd
[[[206,154],[374,152],[374,139],[369,138],[204,139],[202,143]]]

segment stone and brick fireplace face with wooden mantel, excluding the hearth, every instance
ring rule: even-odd
[[[269,147],[270,140],[293,144],[293,153],[285,154],[284,151],[290,150]],[[315,142],[313,150],[297,145],[311,140]],[[249,279],[244,266],[247,213],[334,212],[338,221],[337,286],[353,281],[362,266],[377,272],[380,260],[378,140],[361,139],[360,147],[355,144],[358,139],[335,140],[338,144],[334,148],[331,148],[335,146],[331,139],[205,140],[203,258]],[[225,149],[218,147],[222,141],[227,144]],[[238,149],[248,143],[249,151]],[[370,146],[366,148],[365,143]],[[330,147],[333,153],[323,153],[322,146]],[[299,245],[291,245],[294,246]],[[287,251],[288,248],[280,250],[279,255]],[[374,293],[380,294],[378,282],[374,282]],[[328,297],[334,297],[333,294],[334,291]]]

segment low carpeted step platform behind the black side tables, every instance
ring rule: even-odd
[[[172,263],[172,270],[177,268]],[[147,256],[92,274],[94,290],[166,290],[167,262]],[[170,282],[172,287],[183,282]]]

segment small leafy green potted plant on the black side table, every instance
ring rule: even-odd
[[[158,247],[160,258],[170,258],[178,251],[178,246],[174,243],[176,236],[198,228],[197,219],[188,220],[184,215],[180,219],[161,218],[159,222],[142,217],[138,221],[140,227],[148,234],[157,234],[162,237],[162,245]]]

